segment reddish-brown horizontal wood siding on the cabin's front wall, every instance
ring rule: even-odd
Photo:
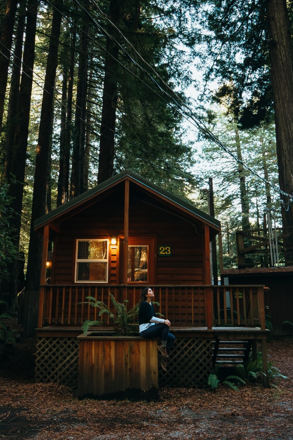
[[[155,205],[154,205],[155,204]],[[182,218],[180,211],[162,205],[148,194],[130,185],[129,238],[154,238],[156,249],[154,284],[203,285],[203,224],[195,226]],[[54,284],[72,284],[75,275],[75,249],[77,238],[109,238],[115,235],[117,245],[109,245],[109,275],[107,284],[120,284],[123,268],[117,260],[119,237],[123,237],[124,191],[116,192],[83,209],[60,224],[54,253]],[[159,246],[172,247],[170,257],[159,257]],[[122,249],[121,249],[122,250]],[[118,279],[118,271],[120,272]]]

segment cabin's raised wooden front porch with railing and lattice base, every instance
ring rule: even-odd
[[[264,373],[267,374],[267,333],[263,286],[152,286],[157,312],[170,319],[176,336],[167,372],[159,370],[159,383],[170,386],[203,386],[217,360],[220,341],[245,344],[244,361],[261,342]],[[137,304],[141,287],[124,285],[42,285],[42,313],[36,330],[36,381],[60,381],[76,385],[80,326],[96,320],[97,310],[82,304],[87,296],[105,302],[109,292],[116,300]],[[108,317],[100,317],[102,331],[111,330]],[[94,327],[91,327],[94,330]],[[137,348],[133,347],[135,352]],[[221,350],[221,348],[220,348]],[[109,354],[110,355],[110,354]],[[139,367],[137,367],[139,370]],[[264,376],[264,385],[268,385]]]

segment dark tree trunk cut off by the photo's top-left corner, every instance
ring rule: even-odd
[[[17,0],[8,0],[3,29],[0,40],[0,127],[2,127],[5,92],[7,86],[8,66],[10,60],[10,50],[12,45],[14,18],[17,8]]]

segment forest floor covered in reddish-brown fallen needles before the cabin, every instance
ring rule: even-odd
[[[33,381],[34,340],[15,344],[0,365],[0,438],[37,440],[293,440],[293,340],[272,340],[269,354],[288,379],[239,392],[161,389],[159,402],[78,400],[76,390]]]

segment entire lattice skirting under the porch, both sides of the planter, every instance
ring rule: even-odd
[[[77,386],[79,342],[75,337],[39,337],[36,344],[36,382]],[[177,338],[168,370],[159,365],[159,385],[193,388],[207,383],[212,372],[212,340]]]

